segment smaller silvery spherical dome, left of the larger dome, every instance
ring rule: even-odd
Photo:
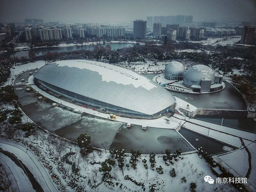
[[[185,68],[181,62],[172,61],[167,64],[164,69],[164,78],[169,80],[177,80],[179,77],[183,77]]]

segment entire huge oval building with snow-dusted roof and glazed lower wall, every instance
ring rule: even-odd
[[[106,113],[155,118],[175,107],[174,96],[153,80],[107,63],[56,61],[33,76],[40,89]]]

